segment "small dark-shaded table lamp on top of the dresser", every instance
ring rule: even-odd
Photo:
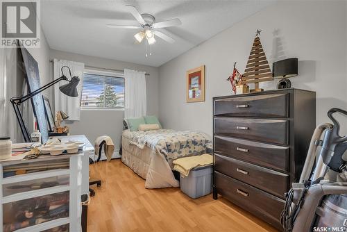
[[[280,79],[277,84],[278,89],[291,88],[288,78],[298,75],[298,58],[288,58],[279,60],[272,65],[273,78]]]

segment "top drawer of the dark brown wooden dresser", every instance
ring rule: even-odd
[[[230,97],[214,101],[215,116],[288,117],[288,93]]]

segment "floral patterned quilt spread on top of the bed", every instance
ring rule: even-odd
[[[167,160],[176,160],[183,156],[200,152],[211,147],[212,143],[208,135],[198,131],[174,131],[159,129],[155,131],[132,131],[130,144],[140,149],[148,146],[164,154]]]

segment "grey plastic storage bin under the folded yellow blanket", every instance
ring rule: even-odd
[[[196,167],[189,175],[180,175],[180,190],[189,197],[196,199],[210,194],[212,191],[212,165]]]

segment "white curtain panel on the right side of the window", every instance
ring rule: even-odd
[[[145,72],[124,69],[125,109],[124,117],[141,117],[147,113]]]

